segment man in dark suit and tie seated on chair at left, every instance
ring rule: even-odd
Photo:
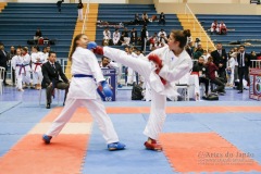
[[[42,85],[46,87],[46,97],[47,103],[46,108],[51,108],[51,96],[54,95],[54,88],[65,89],[64,102],[66,100],[67,91],[69,91],[69,79],[62,71],[62,66],[57,62],[57,53],[50,51],[49,52],[49,61],[42,64],[42,75],[44,82]],[[60,78],[61,77],[61,78]],[[62,80],[61,80],[62,79]],[[64,105],[63,102],[63,105]]]

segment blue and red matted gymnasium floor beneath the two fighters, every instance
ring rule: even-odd
[[[39,105],[39,91],[7,87],[0,96],[1,174],[173,174],[261,173],[261,103],[228,89],[219,101],[167,102],[160,142],[163,152],[145,150],[142,135],[149,102],[132,101],[119,90],[104,103],[127,148],[108,151],[84,108],[79,108],[50,145],[41,135],[62,110]],[[44,95],[45,96],[45,95]]]

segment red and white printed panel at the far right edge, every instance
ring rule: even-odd
[[[261,69],[250,69],[249,98],[261,99]]]

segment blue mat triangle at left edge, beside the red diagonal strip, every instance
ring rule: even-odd
[[[9,103],[5,101],[5,103]],[[13,103],[13,102],[11,102]],[[0,114],[0,157],[26,135],[50,110],[21,103]],[[1,172],[0,172],[1,173]]]

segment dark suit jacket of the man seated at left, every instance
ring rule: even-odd
[[[55,62],[54,65],[55,65],[55,70],[52,67],[50,62],[46,62],[42,64],[41,66],[41,72],[44,75],[42,87],[49,86],[50,83],[52,83],[53,80],[58,83],[59,75],[61,76],[64,83],[69,83],[67,77],[63,73],[62,66],[60,65],[60,63]]]

